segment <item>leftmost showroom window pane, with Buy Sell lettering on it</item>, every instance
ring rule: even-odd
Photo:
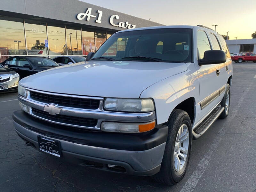
[[[8,49],[9,55],[26,54],[25,35],[22,19],[0,17],[0,47]]]

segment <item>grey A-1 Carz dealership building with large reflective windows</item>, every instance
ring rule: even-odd
[[[161,24],[78,0],[12,0],[0,7],[0,56],[84,56],[113,33]],[[116,43],[116,51],[119,42]],[[2,62],[0,61],[0,62]]]

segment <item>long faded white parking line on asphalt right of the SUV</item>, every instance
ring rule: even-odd
[[[196,188],[196,185],[197,185],[198,181],[200,180],[200,178],[204,174],[207,166],[210,163],[210,160],[212,159],[213,154],[215,153],[215,151],[219,147],[219,144],[220,144],[220,141],[222,140],[222,137],[225,135],[225,133],[227,131],[227,124],[229,124],[233,120],[233,118],[235,117],[234,115],[236,115],[238,109],[240,108],[241,104],[243,103],[245,95],[249,92],[250,87],[252,86],[252,83],[253,83],[253,81],[251,82],[249,87],[247,87],[247,89],[244,91],[244,95],[236,103],[236,108],[234,108],[232,110],[232,112],[230,113],[230,115],[232,115],[232,116],[228,116],[226,123],[223,124],[222,128],[219,130],[215,139],[211,143],[211,146],[209,147],[208,151],[204,154],[203,158],[201,159],[201,161],[197,165],[196,170],[190,175],[190,177],[188,178],[187,182],[182,187],[180,192],[192,192]]]

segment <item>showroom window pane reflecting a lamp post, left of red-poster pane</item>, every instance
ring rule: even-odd
[[[66,28],[68,55],[82,55],[81,30]]]

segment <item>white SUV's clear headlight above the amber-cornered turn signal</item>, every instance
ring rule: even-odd
[[[149,112],[154,111],[154,102],[152,99],[117,99],[106,98],[104,108],[110,111],[125,112]]]

